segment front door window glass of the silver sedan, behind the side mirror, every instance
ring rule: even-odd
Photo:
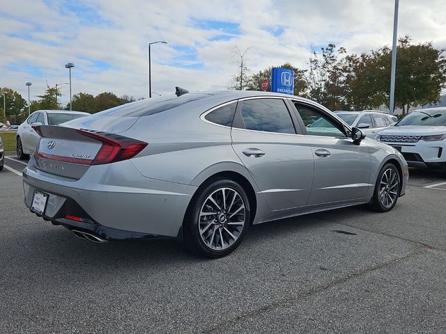
[[[298,110],[300,118],[304,120],[307,134],[310,136],[330,136],[330,137],[345,137],[338,125],[333,120],[330,120],[327,116],[317,112],[315,109],[311,109],[307,106],[295,103],[295,108]],[[308,120],[308,121],[305,121]]]

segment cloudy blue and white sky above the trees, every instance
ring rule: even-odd
[[[4,0],[0,6],[0,87],[27,96],[68,82],[72,93],[148,96],[224,89],[236,70],[231,51],[251,48],[256,72],[285,62],[305,67],[310,50],[334,42],[362,52],[392,42],[392,0]],[[446,48],[445,0],[401,0],[399,35]],[[68,86],[62,101],[68,102]],[[155,95],[155,94],[154,94]]]

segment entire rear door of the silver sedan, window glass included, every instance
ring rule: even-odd
[[[288,103],[269,100],[238,104],[231,129],[233,150],[270,209],[301,207],[307,204],[313,182],[312,150],[305,136],[296,134],[301,130],[293,124]]]

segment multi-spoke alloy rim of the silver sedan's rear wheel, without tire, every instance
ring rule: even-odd
[[[212,250],[229,248],[240,237],[245,225],[245,202],[231,188],[220,188],[203,202],[199,214],[199,234]]]

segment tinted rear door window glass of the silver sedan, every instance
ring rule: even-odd
[[[243,101],[241,116],[245,128],[263,132],[295,134],[293,120],[282,99]]]

